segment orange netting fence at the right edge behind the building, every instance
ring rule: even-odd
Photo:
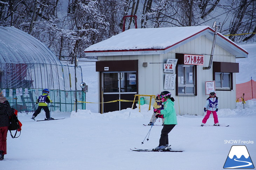
[[[245,83],[236,84],[236,98],[237,102],[256,98],[256,82],[254,80],[250,80]]]

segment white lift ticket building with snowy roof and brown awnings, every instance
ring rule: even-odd
[[[247,58],[248,52],[217,33],[209,67],[214,32],[208,26],[129,29],[88,47],[84,50],[87,56],[98,56],[99,102],[133,100],[134,94],[156,95],[167,90],[175,98],[177,114],[203,115],[209,96],[206,82],[214,81],[219,108],[234,109],[235,73],[239,72],[236,58]],[[201,63],[188,62],[190,57],[199,57]],[[164,73],[169,59],[178,59],[172,74]],[[175,79],[164,87],[166,74]],[[105,103],[103,111],[131,106],[132,102]]]

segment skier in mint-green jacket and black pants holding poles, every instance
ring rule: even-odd
[[[171,93],[169,91],[161,92],[161,99],[163,101],[164,109],[157,110],[156,118],[164,118],[164,125],[161,131],[161,137],[159,140],[159,146],[155,148],[155,150],[165,149],[168,145],[168,133],[177,125],[177,116],[174,108],[174,98],[171,97]]]

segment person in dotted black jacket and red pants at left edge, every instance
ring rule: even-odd
[[[0,161],[6,154],[6,138],[10,125],[9,116],[13,114],[12,108],[0,89]]]

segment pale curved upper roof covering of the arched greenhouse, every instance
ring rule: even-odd
[[[1,63],[38,63],[62,65],[48,47],[15,27],[0,26]]]

